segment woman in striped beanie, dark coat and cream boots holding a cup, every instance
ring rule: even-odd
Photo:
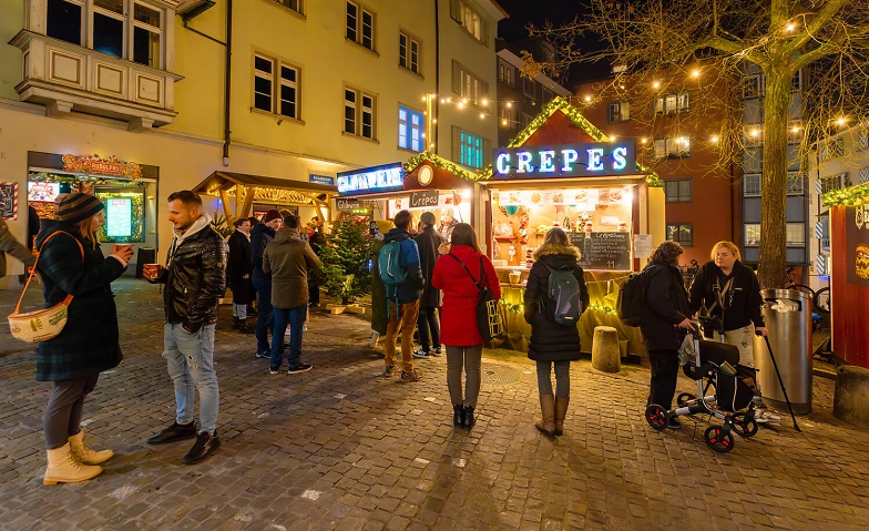
[[[81,429],[84,398],[103,370],[121,362],[117,310],[111,283],[126,268],[132,246],[103,257],[96,232],[105,222],[103,204],[88,194],[70,194],[54,219],[43,219],[37,236],[37,270],[42,278],[45,307],[72,295],[63,330],[39,344],[37,380],[51,381],[43,416],[49,464],[45,484],[85,481],[102,472],[113,456],[84,445]]]

